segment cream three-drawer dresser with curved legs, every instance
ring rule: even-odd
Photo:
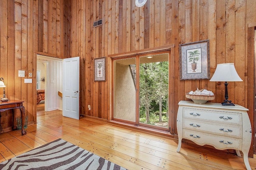
[[[219,103],[195,104],[180,101],[177,115],[178,148],[182,139],[198,145],[211,145],[216,149],[235,149],[244,155],[244,164],[251,170],[248,152],[252,140],[252,127],[245,107],[222,106]]]

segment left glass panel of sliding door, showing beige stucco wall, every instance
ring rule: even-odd
[[[136,58],[114,60],[114,119],[136,121]]]

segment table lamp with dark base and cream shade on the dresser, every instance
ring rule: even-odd
[[[228,83],[227,82],[242,82],[243,80],[238,76],[234,63],[218,64],[210,82],[225,82],[225,100],[223,106],[235,106],[228,100]]]

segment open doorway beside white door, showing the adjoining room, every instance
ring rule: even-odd
[[[37,55],[36,92],[37,110],[62,110],[62,62],[63,59]]]

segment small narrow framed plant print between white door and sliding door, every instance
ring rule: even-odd
[[[94,59],[94,81],[106,81],[106,57]]]

